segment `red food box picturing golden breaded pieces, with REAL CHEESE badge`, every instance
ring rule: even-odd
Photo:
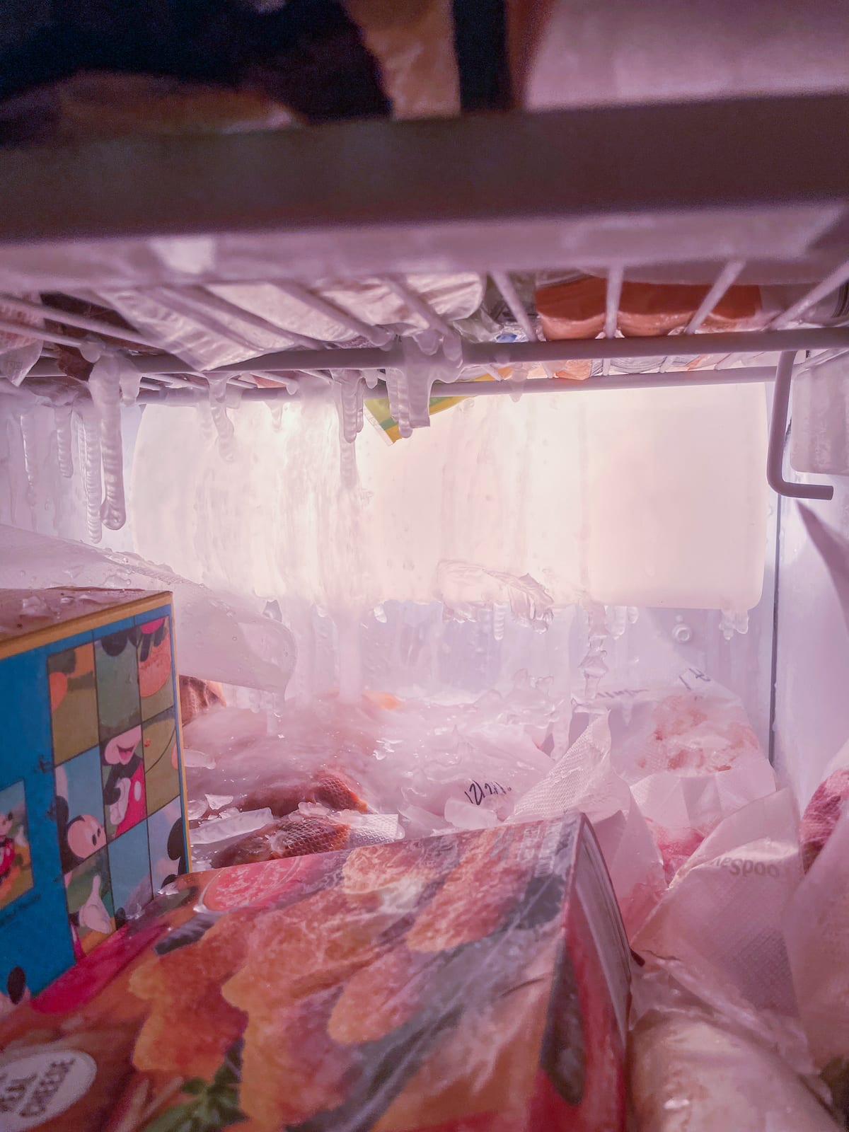
[[[191,874],[0,1022],[9,1132],[616,1132],[586,820]]]

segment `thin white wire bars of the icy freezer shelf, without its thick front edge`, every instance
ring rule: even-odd
[[[524,331],[529,341],[526,342],[488,342],[473,343],[461,338],[458,350],[453,350],[451,354],[451,366],[457,374],[457,379],[451,383],[435,381],[431,387],[431,396],[496,396],[503,394],[523,395],[537,393],[568,394],[577,391],[612,391],[633,388],[662,388],[677,385],[719,385],[740,384],[749,381],[775,381],[775,396],[773,404],[773,418],[770,434],[770,455],[767,464],[767,477],[771,486],[781,495],[796,498],[827,499],[831,498],[833,489],[829,486],[794,483],[783,477],[783,452],[787,435],[788,410],[790,402],[790,385],[794,375],[794,363],[796,355],[804,351],[806,353],[817,352],[818,358],[813,365],[824,357],[834,357],[835,353],[849,351],[849,327],[799,327],[795,329],[781,329],[791,318],[804,318],[805,311],[817,302],[824,294],[830,293],[849,278],[849,263],[832,272],[826,280],[813,285],[808,293],[799,299],[788,312],[773,319],[773,326],[763,331],[697,334],[695,333],[704,318],[721,300],[729,286],[734,283],[744,267],[739,260],[731,260],[718,273],[717,280],[710,288],[698,310],[691,319],[686,332],[679,335],[664,337],[637,337],[617,338],[614,337],[616,326],[616,315],[618,310],[619,297],[624,278],[624,268],[617,266],[612,268],[607,278],[607,303],[604,336],[593,340],[569,340],[544,342],[540,341],[538,328],[533,324],[529,312],[523,308],[516,289],[508,273],[494,273],[494,282],[499,288],[504,299],[511,309],[516,321]],[[438,332],[445,343],[456,340],[458,332],[448,325],[438,314],[432,311],[426,301],[411,291],[404,281],[393,280],[393,286],[412,306],[412,308]],[[209,292],[204,292],[208,294]],[[320,297],[312,295],[298,284],[291,284],[290,293],[297,294],[301,301],[305,298],[308,302],[314,302],[319,307],[326,317],[335,317],[337,308],[326,302]],[[87,318],[76,314],[67,314],[62,310],[40,307],[28,300],[20,300],[10,297],[0,297],[12,309],[18,309],[25,314],[41,314],[42,317],[54,319],[59,323],[86,329],[105,340],[121,341],[134,345],[145,346],[155,350],[151,338],[139,335],[132,331],[117,329],[115,327],[102,323],[97,319]],[[222,300],[226,307],[231,306]],[[241,317],[241,308],[238,308]],[[249,312],[248,312],[249,314]],[[788,318],[788,315],[790,318]],[[249,315],[250,318],[250,315]],[[344,319],[344,321],[343,321]],[[263,328],[277,331],[282,335],[282,327],[256,316],[256,320],[263,324]],[[286,349],[273,353],[260,354],[233,362],[230,366],[212,370],[208,377],[223,377],[226,383],[239,389],[239,395],[248,400],[260,400],[275,402],[297,396],[300,389],[299,377],[318,377],[326,379],[335,374],[365,374],[371,371],[379,377],[387,369],[403,370],[409,362],[410,344],[402,343],[384,327],[370,327],[362,324],[353,316],[340,315],[340,323],[348,329],[355,329],[362,337],[370,338],[371,342],[379,342],[380,345],[360,348],[337,348],[331,343],[310,344],[308,348]],[[20,324],[15,321],[0,320],[0,329],[11,331],[19,328]],[[76,346],[79,340],[68,335],[53,333],[46,329],[27,328],[29,336],[42,338],[44,342],[59,343]],[[670,348],[674,353],[670,352]],[[687,357],[718,355],[723,360],[729,358],[743,359],[749,354],[762,354],[771,352],[780,353],[780,361],[777,368],[769,366],[718,366],[714,369],[672,369],[680,366],[680,360]],[[609,363],[621,358],[663,358],[658,371],[644,374],[629,374],[627,376],[610,375]],[[432,359],[431,359],[432,360]],[[489,369],[497,374],[497,367],[524,366],[526,363],[539,362],[543,366],[558,363],[568,360],[601,360],[603,363],[602,376],[589,378],[585,381],[569,381],[559,378],[546,377],[523,381],[514,380],[464,380],[463,370],[473,367],[478,370]],[[143,387],[138,400],[142,403],[157,403],[166,405],[180,405],[194,403],[208,395],[208,380],[204,380],[204,375],[187,372],[187,363],[179,358],[168,353],[151,352],[136,354],[132,362],[144,375]],[[277,387],[259,387],[251,381],[248,375],[260,372],[267,377],[277,378],[285,384]],[[37,385],[45,379],[61,377],[61,370],[55,361],[43,358],[36,363],[31,376],[31,384]],[[79,394],[86,395],[85,387],[80,385]]]

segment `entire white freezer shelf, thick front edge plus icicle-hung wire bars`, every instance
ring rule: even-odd
[[[50,284],[85,294],[96,281],[127,285],[121,265],[131,261],[134,285],[155,286],[201,324],[203,311],[237,316],[265,334],[278,334],[284,349],[204,375],[138,331],[14,295],[0,301],[22,315],[41,315],[147,351],[132,354],[143,375],[142,402],[185,404],[205,396],[209,379],[246,398],[272,402],[298,396],[315,381],[344,375],[350,383],[353,372],[369,375],[372,384],[387,370],[409,367],[409,341],[344,310],[309,282],[378,276],[429,327],[434,341],[427,358],[439,362],[443,376],[456,377],[434,384],[431,395],[774,380],[770,481],[782,494],[830,495],[826,487],[788,483],[781,468],[795,367],[849,351],[849,328],[794,325],[849,280],[849,186],[841,156],[849,98],[625,106],[297,132],[10,152],[0,179],[3,289],[19,281],[18,292],[45,291]],[[455,179],[447,186],[446,170],[456,170],[460,154],[462,183]],[[381,177],[374,175],[375,169]],[[204,194],[190,191],[195,185],[203,185]],[[151,254],[146,241],[157,240],[183,241],[189,258],[206,258],[211,266],[192,266],[187,274],[173,257]],[[512,272],[546,265],[546,257],[606,274],[602,337],[541,341]],[[700,333],[747,266],[764,259],[805,261],[807,278],[813,277],[811,264],[820,264],[820,278],[762,329]],[[692,260],[712,261],[715,274],[684,333],[617,337],[628,268]],[[481,266],[526,341],[469,341],[409,282],[417,271]],[[293,333],[205,285],[269,280],[368,344],[338,346]],[[0,320],[0,331],[18,328],[15,320]],[[53,345],[79,344],[48,329],[27,326],[26,333]],[[799,359],[800,352],[806,357]],[[745,365],[763,353],[780,354],[775,369],[757,358]],[[717,358],[717,368],[680,368],[681,359],[700,355]],[[652,362],[645,372],[611,375],[625,358]],[[601,374],[583,383],[551,376],[556,363],[569,360],[600,361]],[[539,363],[548,376],[497,379],[498,367],[528,363]],[[488,372],[489,379],[468,380],[469,369]],[[260,388],[252,375],[285,379],[285,385]],[[46,388],[60,376],[55,359],[44,355],[27,384]],[[86,395],[82,384],[77,392]]]

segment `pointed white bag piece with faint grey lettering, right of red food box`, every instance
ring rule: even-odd
[[[705,838],[632,945],[703,967],[753,1005],[792,1015],[782,927],[800,877],[796,803],[780,790]]]

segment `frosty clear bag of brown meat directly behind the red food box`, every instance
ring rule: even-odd
[[[205,756],[189,764],[189,798],[199,805],[213,795],[224,799],[221,807],[242,812],[269,807],[274,818],[303,801],[400,813],[410,835],[483,829],[508,817],[515,799],[551,766],[529,734],[541,738],[544,722],[537,717],[535,728],[524,724],[521,711],[521,694],[454,707],[326,696],[288,701],[277,734],[269,734],[254,712],[212,709],[185,729],[187,747]],[[212,813],[205,807],[197,817]]]

